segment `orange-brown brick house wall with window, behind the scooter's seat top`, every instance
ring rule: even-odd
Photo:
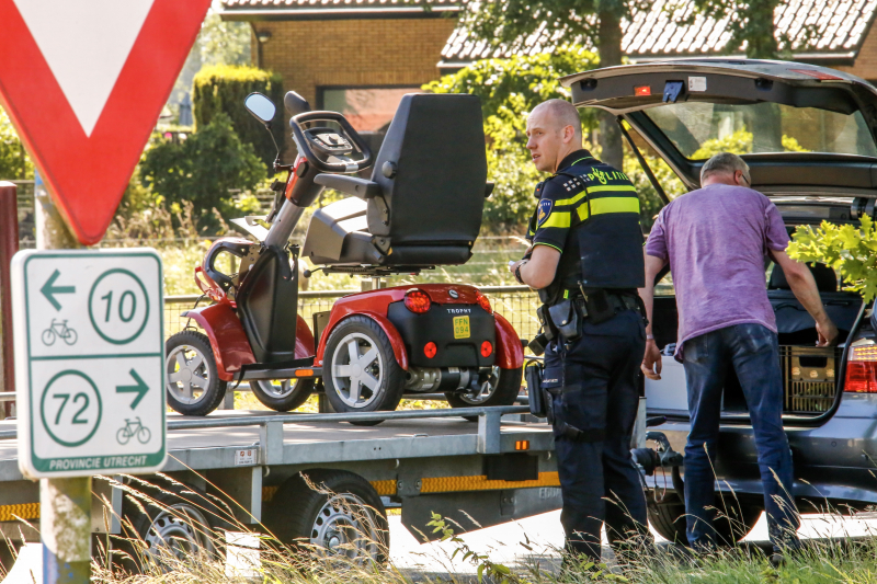
[[[281,73],[286,90],[374,131],[405,93],[440,77],[459,8],[458,0],[224,0],[223,18],[250,22],[254,65]]]

